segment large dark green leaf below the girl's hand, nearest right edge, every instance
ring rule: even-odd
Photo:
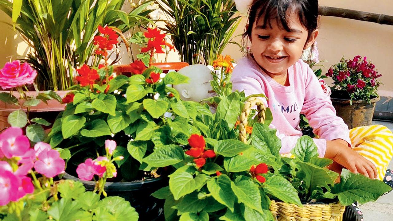
[[[348,206],[355,201],[360,204],[376,201],[378,197],[389,190],[391,187],[381,180],[372,180],[360,173],[354,174],[343,169],[340,183],[331,188],[330,192],[326,192],[324,197],[338,196],[340,203]]]

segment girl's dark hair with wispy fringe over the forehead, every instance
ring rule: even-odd
[[[263,28],[272,27],[271,20],[277,20],[282,28],[290,31],[288,27],[288,10],[299,16],[300,23],[307,29],[308,37],[318,26],[318,0],[253,0],[248,17],[248,28],[243,37],[250,37],[255,22],[263,19]]]

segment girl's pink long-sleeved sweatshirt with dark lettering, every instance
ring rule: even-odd
[[[351,146],[348,126],[336,116],[330,97],[308,64],[301,59],[288,68],[290,86],[283,86],[268,76],[255,60],[248,55],[243,57],[233,69],[233,90],[250,94],[265,94],[262,99],[272,110],[273,122],[270,127],[277,129],[281,139],[281,154],[289,153],[302,136],[299,122],[300,114],[305,114],[313,132],[320,136],[314,139],[320,157],[325,155],[326,140],[343,139]]]

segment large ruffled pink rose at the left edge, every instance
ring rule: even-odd
[[[4,90],[32,84],[37,76],[37,71],[33,70],[28,63],[20,64],[20,61],[7,62],[0,70],[0,87]]]

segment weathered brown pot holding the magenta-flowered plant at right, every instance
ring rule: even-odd
[[[371,125],[375,103],[379,101],[379,96],[371,99],[371,103],[364,100],[352,100],[352,105],[349,99],[343,99],[344,96],[338,97],[340,97],[339,94],[332,94],[333,107],[336,109],[337,116],[344,120],[349,129]]]

